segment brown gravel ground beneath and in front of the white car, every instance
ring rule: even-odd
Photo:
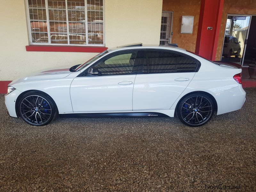
[[[34,127],[7,116],[0,95],[0,191],[256,191],[256,88],[247,92],[241,110],[198,128],[156,117]]]

